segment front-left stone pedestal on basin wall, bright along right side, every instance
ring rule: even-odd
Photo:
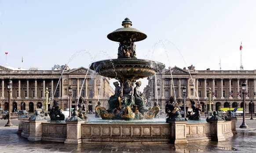
[[[82,143],[81,140],[81,123],[84,123],[84,121],[66,121],[67,123],[67,139],[64,143],[72,143],[72,144],[80,144]]]

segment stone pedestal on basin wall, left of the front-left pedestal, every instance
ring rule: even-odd
[[[40,141],[42,139],[42,122],[47,122],[47,120],[29,120],[28,140]]]

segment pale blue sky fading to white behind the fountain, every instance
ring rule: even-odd
[[[0,0],[0,65],[70,68],[117,58],[125,17],[147,35],[137,58],[196,70],[255,70],[256,0]],[[22,63],[23,56],[23,63]]]

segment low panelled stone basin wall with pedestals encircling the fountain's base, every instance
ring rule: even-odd
[[[21,120],[19,132],[31,141],[63,143],[192,143],[224,141],[235,121],[170,123],[84,123]]]

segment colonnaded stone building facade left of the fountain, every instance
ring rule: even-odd
[[[52,70],[11,70],[0,67],[0,102],[8,110],[7,83],[12,82],[11,111],[26,110],[34,112],[36,108],[45,110],[45,93],[49,92],[50,102],[59,102],[59,108],[69,108],[69,85],[72,87],[72,108],[77,105],[79,97],[84,97],[88,111],[95,111],[100,101],[108,108],[108,99],[113,95],[110,78],[99,76],[87,68],[77,69],[53,68]],[[48,88],[48,89],[47,89]],[[49,105],[49,107],[51,107]]]

